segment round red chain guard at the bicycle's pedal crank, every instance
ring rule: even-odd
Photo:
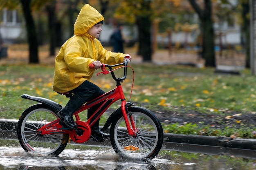
[[[90,139],[91,136],[91,128],[85,121],[76,121],[77,128],[79,133],[76,130],[72,130],[70,132],[70,139],[76,143],[84,143]]]

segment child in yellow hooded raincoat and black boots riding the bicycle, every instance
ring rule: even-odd
[[[76,18],[74,36],[61,46],[55,59],[53,90],[61,94],[72,94],[66,106],[58,112],[58,116],[63,124],[72,129],[77,129],[73,113],[86,102],[104,94],[91,81],[95,69],[101,68],[101,63],[112,65],[124,62],[125,54],[107,51],[97,39],[102,31],[103,20],[99,11],[85,4]],[[91,63],[94,64],[94,69],[89,68]],[[99,106],[96,105],[88,109],[88,118],[97,108]],[[102,142],[109,137],[109,134],[99,129],[99,121],[91,130],[94,141]]]

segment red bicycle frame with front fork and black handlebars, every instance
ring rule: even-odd
[[[124,64],[124,63],[122,63]],[[117,87],[112,89],[111,91],[97,97],[96,99],[84,104],[83,106],[81,106],[73,115],[76,118],[76,121],[81,121],[80,117],[79,117],[79,113],[81,113],[84,110],[87,110],[88,108],[95,106],[96,104],[101,104],[101,106],[99,106],[99,108],[96,110],[96,112],[85,122],[85,124],[88,124],[90,127],[92,127],[92,125],[99,120],[99,118],[101,117],[101,115],[103,115],[103,113],[117,100],[121,100],[121,111],[122,111],[122,115],[124,117],[124,121],[126,123],[126,127],[128,130],[128,134],[131,135],[132,137],[136,137],[136,128],[135,128],[135,124],[133,121],[133,117],[131,114],[129,114],[129,119],[130,119],[130,123],[129,123],[129,119],[127,117],[127,113],[126,113],[126,99],[124,97],[124,92],[123,89],[121,87],[121,83],[125,78],[126,78],[126,64],[127,62],[125,62],[125,66],[124,66],[124,77],[122,78],[116,78],[115,74],[112,72],[112,67],[110,68],[110,66],[108,66],[108,68],[110,68],[111,71],[106,71],[105,70],[105,64],[103,64],[102,67],[102,72],[103,74],[108,74],[111,73],[113,79],[116,80],[117,82]],[[121,64],[117,64],[114,66],[119,66]],[[99,74],[99,73],[98,73]],[[97,75],[98,75],[97,74]],[[63,126],[61,126],[60,123],[60,119],[56,119],[55,121],[50,122],[49,124],[46,124],[45,126],[39,128],[37,130],[39,135],[47,135],[47,134],[53,134],[53,133],[70,133],[70,130],[68,128],[63,128]],[[131,126],[132,127],[131,127]]]

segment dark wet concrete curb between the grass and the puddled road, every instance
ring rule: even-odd
[[[0,138],[17,139],[17,124],[18,120],[16,119],[0,119]],[[92,144],[97,145],[99,143],[94,142]],[[221,148],[256,150],[256,139],[233,139],[230,137],[164,133],[163,147],[166,149],[172,149],[173,144],[190,144],[200,146],[214,146]]]

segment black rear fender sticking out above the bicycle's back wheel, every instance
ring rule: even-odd
[[[33,100],[36,101],[38,103],[41,103],[49,108],[52,108],[52,110],[54,110],[56,113],[58,113],[59,110],[61,110],[62,106],[52,100],[43,98],[43,97],[36,97],[36,96],[31,96],[28,94],[23,94],[21,95],[21,97],[23,99],[29,99],[29,100]]]

